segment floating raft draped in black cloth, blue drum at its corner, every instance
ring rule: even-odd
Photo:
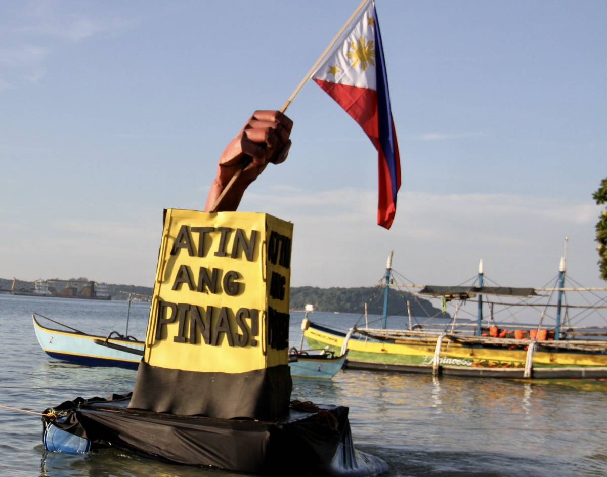
[[[364,477],[388,470],[382,459],[354,449],[344,406],[293,402],[283,419],[263,422],[135,410],[127,408],[130,401],[131,393],[115,394],[47,409],[44,414],[55,417],[43,418],[44,435],[52,436],[45,447],[72,453],[117,447],[175,464],[270,476]]]

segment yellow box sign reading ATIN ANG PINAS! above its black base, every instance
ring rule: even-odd
[[[167,209],[144,361],[245,373],[288,363],[293,224]]]

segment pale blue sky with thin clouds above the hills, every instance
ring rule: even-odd
[[[202,210],[217,158],[279,109],[356,0],[0,0],[0,277],[152,286],[164,208]],[[293,222],[291,286],[599,279],[607,2],[377,0],[401,152],[390,230],[377,153],[311,81],[290,155],[240,211]],[[565,242],[565,237],[568,241]]]

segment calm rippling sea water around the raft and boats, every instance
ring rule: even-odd
[[[129,334],[143,337],[149,305],[133,303]],[[125,302],[0,294],[0,404],[42,411],[76,396],[131,391],[135,371],[86,368],[49,359],[32,313],[89,333],[124,333]],[[299,346],[302,314],[291,315]],[[339,329],[350,314],[311,315]],[[393,325],[391,325],[393,326]],[[354,442],[390,465],[388,476],[605,476],[607,384],[528,384],[473,378],[341,371],[333,381],[294,379],[293,399],[350,407]],[[115,449],[47,453],[38,416],[0,408],[0,476],[226,476],[168,465]],[[288,476],[288,470],[285,470]]]

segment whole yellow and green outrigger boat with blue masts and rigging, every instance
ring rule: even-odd
[[[597,296],[597,292],[607,291],[607,288],[566,288],[565,260],[561,259],[557,286],[552,288],[486,286],[482,260],[478,280],[470,286],[395,285],[392,273],[390,255],[381,284],[385,288],[381,328],[358,325],[351,328],[345,368],[527,379],[607,377],[607,327],[577,326],[583,318],[580,313],[595,314],[607,308],[607,298]],[[414,324],[415,319],[409,312],[408,326],[404,323],[402,329],[388,329],[390,286],[419,288],[420,296],[441,299],[445,308],[455,301],[458,303],[455,313],[449,322],[443,320],[440,325],[429,325]],[[565,303],[566,291],[593,293],[595,302],[568,305]],[[557,294],[555,304],[538,302],[554,294]],[[511,300],[508,303],[498,301],[502,297]],[[458,321],[461,305],[470,302],[477,303],[476,320]],[[489,305],[488,320],[483,317],[484,305]],[[504,306],[501,310],[510,313],[508,323],[495,321],[495,305]],[[527,310],[543,308],[538,323],[522,325],[515,322],[512,314],[515,306]],[[549,316],[554,311],[554,316]],[[575,316],[569,316],[574,311]],[[313,322],[304,334],[308,346],[328,346],[332,351],[339,350],[347,336],[345,331]]]

